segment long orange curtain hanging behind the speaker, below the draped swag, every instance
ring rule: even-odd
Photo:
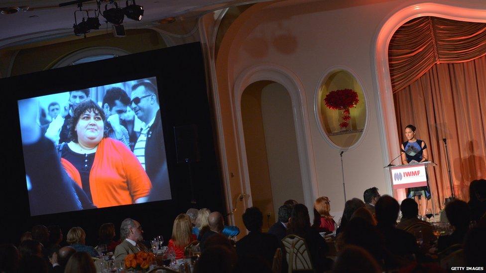
[[[451,195],[443,138],[447,139],[454,189],[469,200],[469,183],[486,178],[486,57],[436,64],[393,95],[399,139],[407,124],[417,127],[429,158],[429,185],[436,207]]]

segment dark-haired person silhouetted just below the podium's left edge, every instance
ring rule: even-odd
[[[418,246],[412,234],[395,227],[399,209],[400,205],[393,197],[381,196],[375,206],[377,228],[384,237],[388,251],[393,255],[410,257],[417,254]]]

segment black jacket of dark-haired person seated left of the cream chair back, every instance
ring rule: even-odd
[[[280,247],[280,241],[273,234],[252,231],[236,242],[238,258],[259,257],[271,266],[275,251]]]

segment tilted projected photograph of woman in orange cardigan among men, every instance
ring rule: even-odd
[[[155,77],[18,109],[32,216],[171,199]]]

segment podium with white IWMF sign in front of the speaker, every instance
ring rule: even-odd
[[[437,164],[432,161],[424,161],[415,164],[405,164],[397,166],[386,166],[384,169],[388,169],[391,175],[391,184],[393,189],[398,188],[410,188],[429,185],[428,168],[435,167]],[[432,200],[432,213],[436,214],[433,193],[430,190],[430,199]],[[407,196],[408,197],[408,196]],[[434,217],[434,219],[436,219]]]

